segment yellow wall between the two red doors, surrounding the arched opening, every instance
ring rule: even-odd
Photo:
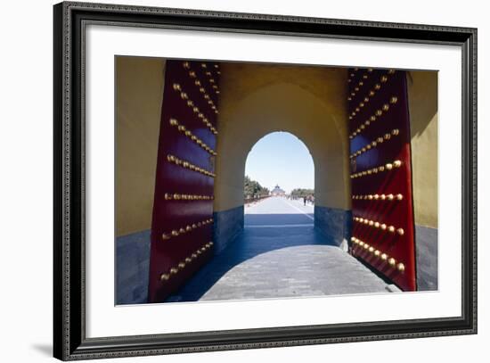
[[[316,204],[350,209],[347,70],[248,63],[221,70],[215,210],[243,204],[249,151],[274,131],[298,136],[312,154]]]

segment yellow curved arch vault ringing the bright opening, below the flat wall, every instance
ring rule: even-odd
[[[334,208],[349,207],[345,162],[348,155],[343,148],[347,136],[316,96],[296,85],[279,83],[243,99],[233,114],[222,111],[220,120],[225,122],[219,125],[215,210],[241,205],[239,192],[243,190],[242,175],[249,150],[260,138],[275,131],[290,132],[306,144],[319,166],[315,173],[318,202]]]

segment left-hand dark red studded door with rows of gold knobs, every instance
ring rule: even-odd
[[[212,256],[219,65],[167,61],[151,223],[149,302]]]

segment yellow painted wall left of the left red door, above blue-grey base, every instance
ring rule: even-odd
[[[116,58],[116,235],[151,228],[165,61]]]

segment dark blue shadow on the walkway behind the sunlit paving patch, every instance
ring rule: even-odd
[[[248,214],[245,228],[233,243],[201,268],[171,301],[199,301],[229,270],[259,254],[286,247],[322,244],[337,246],[314,228],[305,214]]]

